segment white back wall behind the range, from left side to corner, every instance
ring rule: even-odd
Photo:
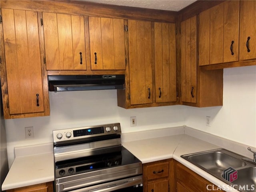
[[[14,147],[52,142],[52,130],[120,122],[122,132],[175,127],[184,124],[184,106],[123,109],[116,90],[50,92],[51,115],[6,120],[9,166]],[[130,127],[136,116],[137,126]],[[34,126],[34,139],[25,138],[25,127]]]

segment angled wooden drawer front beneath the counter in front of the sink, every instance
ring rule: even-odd
[[[200,176],[188,168],[177,164],[176,174],[177,179],[184,183],[186,186],[189,186],[190,189],[200,192],[206,191],[206,182],[204,182]]]

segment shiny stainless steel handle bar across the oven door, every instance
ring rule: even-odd
[[[80,188],[77,190],[72,190],[70,192],[112,192],[114,190],[123,189],[134,185],[142,186],[142,176],[135,176],[114,182]]]

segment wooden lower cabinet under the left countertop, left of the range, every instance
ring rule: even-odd
[[[7,192],[53,192],[53,182],[10,189]]]

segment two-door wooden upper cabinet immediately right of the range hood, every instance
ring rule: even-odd
[[[176,104],[176,25],[128,20],[126,90],[118,106],[139,108]]]

